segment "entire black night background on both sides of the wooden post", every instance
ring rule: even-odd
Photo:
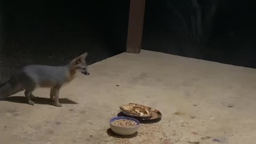
[[[201,19],[195,20],[202,22],[203,34],[195,36],[191,15],[198,11],[193,1],[147,0],[142,49],[255,68],[253,4],[196,1]],[[29,64],[65,65],[84,52],[91,64],[125,51],[129,0],[0,4],[2,77]],[[217,8],[209,17],[213,5]]]

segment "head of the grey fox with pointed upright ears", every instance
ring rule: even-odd
[[[90,73],[87,70],[87,63],[85,61],[86,57],[87,57],[87,52],[75,58],[74,60],[72,60],[69,63],[70,69],[75,71],[81,71],[81,73],[84,75],[90,75]]]

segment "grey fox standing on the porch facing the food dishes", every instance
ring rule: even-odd
[[[87,53],[70,61],[66,66],[28,65],[13,75],[8,82],[0,87],[0,99],[7,98],[15,93],[25,90],[25,96],[29,105],[34,105],[36,97],[32,94],[37,87],[49,87],[50,98],[55,106],[59,103],[59,91],[63,84],[72,81],[76,73],[81,71],[84,75],[90,75],[87,70],[85,58]]]

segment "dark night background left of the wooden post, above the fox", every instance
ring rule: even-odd
[[[93,63],[125,50],[129,0],[1,2],[5,57],[63,65],[84,52]]]

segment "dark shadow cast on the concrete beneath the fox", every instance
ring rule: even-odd
[[[10,102],[16,102],[16,103],[27,103],[27,99],[25,96],[13,96],[13,97],[8,97],[4,99],[3,101],[10,101]],[[41,105],[53,105],[53,101],[50,100],[50,98],[40,98],[36,97],[35,100],[33,100],[35,104],[41,104]],[[59,102],[62,104],[78,104],[75,101],[72,101],[68,98],[60,98]]]

